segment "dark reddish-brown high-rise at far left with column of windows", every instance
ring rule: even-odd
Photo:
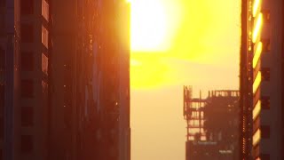
[[[0,156],[47,159],[49,4],[25,2],[0,2]]]

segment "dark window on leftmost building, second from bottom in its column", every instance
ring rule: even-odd
[[[33,126],[34,124],[34,110],[32,107],[22,107],[21,108],[21,126]]]

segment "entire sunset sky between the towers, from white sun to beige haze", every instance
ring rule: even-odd
[[[131,159],[184,160],[183,85],[238,89],[241,1],[130,2]]]

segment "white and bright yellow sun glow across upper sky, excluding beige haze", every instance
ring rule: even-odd
[[[176,71],[165,60],[216,65],[224,60],[238,60],[238,54],[233,52],[240,48],[241,20],[234,12],[241,11],[241,4],[227,0],[128,1],[131,4],[131,87],[142,89],[180,83],[175,76],[186,67]]]

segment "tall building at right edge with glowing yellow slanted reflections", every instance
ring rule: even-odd
[[[241,159],[283,159],[284,2],[241,7]]]

